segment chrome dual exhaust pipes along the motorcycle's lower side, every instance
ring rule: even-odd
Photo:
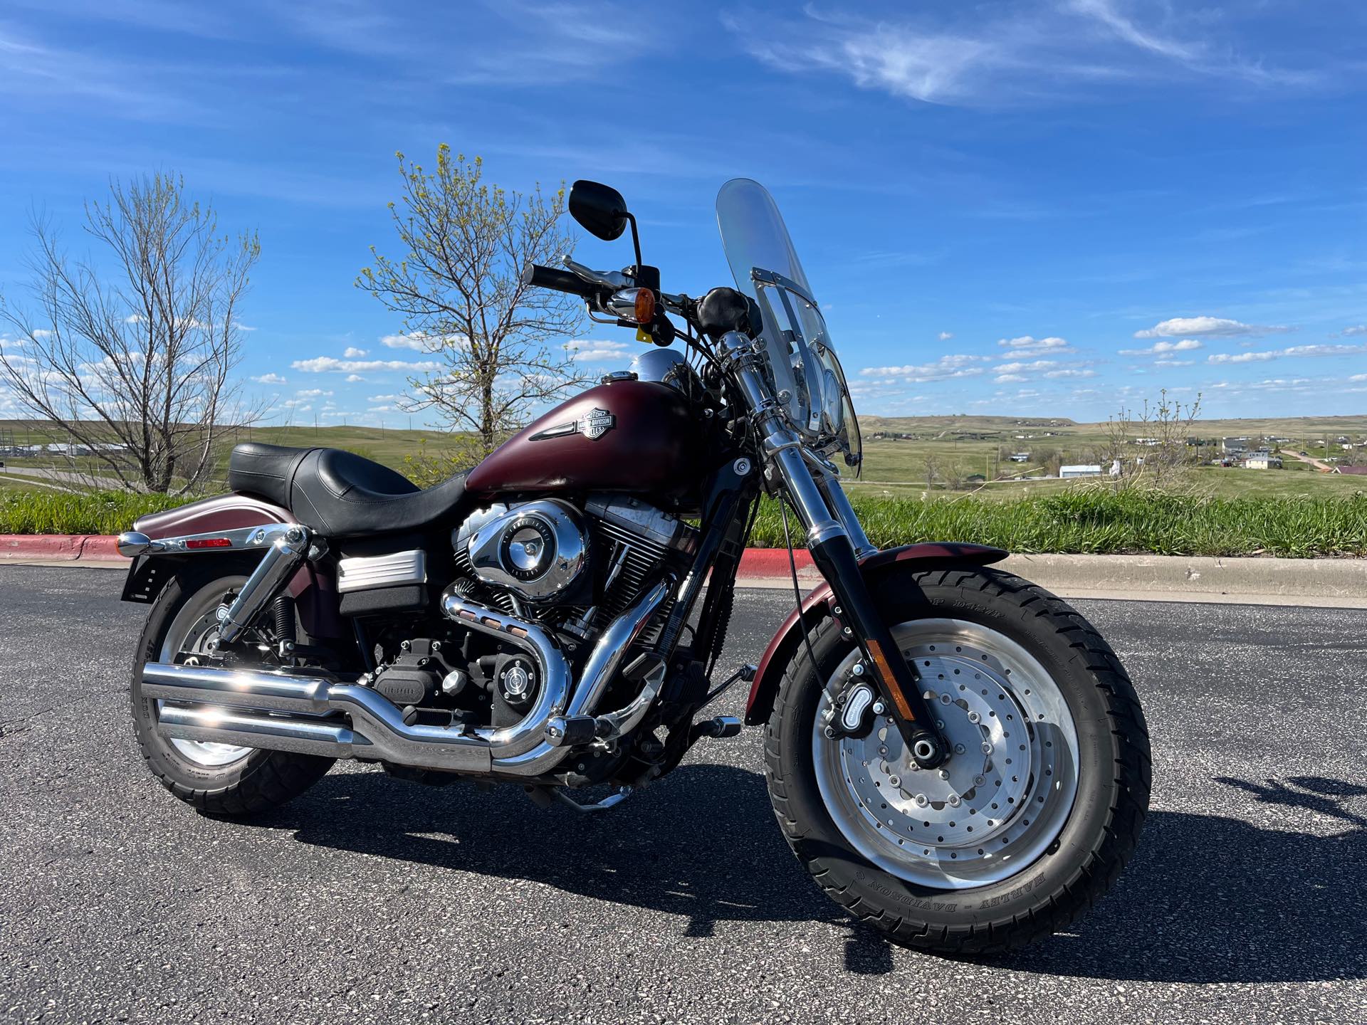
[[[536,702],[521,720],[498,730],[409,726],[383,694],[301,670],[146,663],[141,690],[146,698],[176,702],[163,704],[157,716],[159,730],[170,738],[528,780],[551,772],[570,753],[563,733],[551,723],[596,713],[626,649],[673,584],[666,578],[649,588],[603,631],[573,693],[570,666],[541,627],[455,593],[443,596],[442,611],[451,620],[518,646],[537,663],[541,689]],[[637,722],[640,704],[653,701],[658,682],[655,687],[648,682],[644,692],[629,705],[629,718]]]

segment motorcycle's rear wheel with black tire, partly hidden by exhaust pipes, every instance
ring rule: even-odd
[[[224,593],[246,581],[226,569],[176,577],[152,604],[134,656],[133,728],[152,775],[178,798],[204,815],[252,816],[302,794],[327,774],[334,758],[172,741],[157,730],[161,702],[142,697],[142,666],[170,661],[186,649],[187,630],[193,631],[205,612],[212,614]]]

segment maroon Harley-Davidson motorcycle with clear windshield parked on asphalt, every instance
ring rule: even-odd
[[[779,828],[852,916],[956,954],[1077,918],[1148,804],[1115,653],[1003,551],[869,543],[837,462],[861,461],[850,390],[760,184],[722,187],[735,287],[701,298],[662,290],[617,190],[577,182],[569,209],[606,242],[630,227],[636,262],[522,282],[636,331],[630,370],[428,489],[346,451],[239,444],[232,493],[119,537],[123,599],[150,603],[131,704],[153,775],[217,816],[336,758],[601,812],[735,737],[704,709],[744,682]],[[824,582],[714,682],[764,495]]]

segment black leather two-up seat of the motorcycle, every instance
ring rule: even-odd
[[[357,537],[413,530],[461,511],[465,474],[424,491],[355,452],[247,441],[228,456],[228,487],[283,506],[328,537]]]

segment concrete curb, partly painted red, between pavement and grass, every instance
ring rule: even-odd
[[[124,567],[101,534],[0,534],[0,560]],[[793,552],[805,590],[820,581],[805,551]],[[1064,597],[1137,601],[1233,601],[1367,608],[1367,559],[1213,559],[1187,555],[1012,555],[1001,569]],[[791,586],[785,548],[746,548],[738,582]]]

